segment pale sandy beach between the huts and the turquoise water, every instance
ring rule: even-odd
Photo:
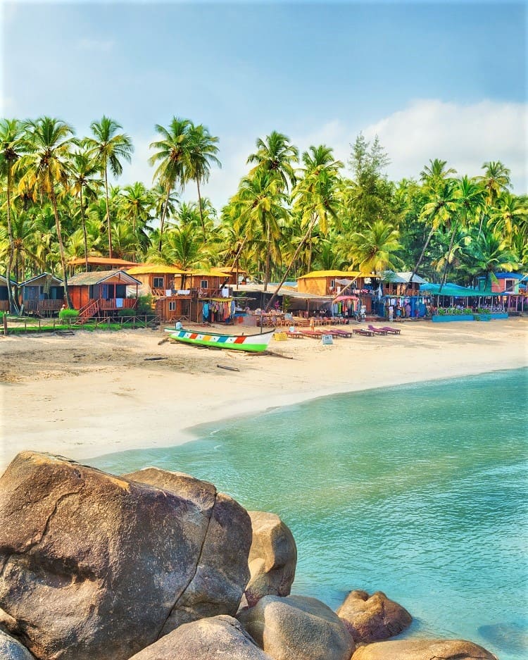
[[[332,346],[272,341],[289,359],[159,344],[153,330],[0,337],[0,468],[21,449],[84,461],[326,394],[528,366],[527,318],[398,327]]]

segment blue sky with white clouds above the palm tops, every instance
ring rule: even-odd
[[[154,127],[177,116],[219,138],[222,169],[202,187],[217,208],[272,130],[345,163],[360,132],[377,135],[393,180],[434,158],[470,176],[500,160],[528,192],[525,1],[4,0],[0,11],[0,116],[54,116],[79,136],[114,118],[134,142],[120,185],[152,184]]]

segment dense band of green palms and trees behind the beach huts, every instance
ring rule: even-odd
[[[58,118],[0,120],[8,282],[46,271],[65,281],[68,299],[68,261],[89,256],[179,268],[237,263],[265,288],[334,268],[408,270],[463,285],[528,270],[528,199],[513,192],[500,161],[471,178],[436,158],[415,179],[392,181],[377,138],[358,135],[345,165],[326,144],[300,153],[274,131],[256,140],[238,189],[216,209],[201,185],[220,167],[218,137],[186,118],[155,130],[151,186],[121,186],[134,148],[117,120],[94,120],[85,137]]]

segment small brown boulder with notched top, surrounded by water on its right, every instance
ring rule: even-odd
[[[377,642],[394,637],[413,621],[408,611],[377,591],[351,591],[337,610],[355,642]]]

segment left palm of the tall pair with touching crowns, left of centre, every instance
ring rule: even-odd
[[[179,183],[182,189],[189,178],[189,132],[192,124],[188,119],[172,117],[169,128],[156,124],[156,131],[162,139],[152,142],[151,149],[157,149],[149,158],[150,165],[158,165],[154,178],[165,190],[165,203],[161,211],[158,250],[161,252],[165,217],[172,190]]]

